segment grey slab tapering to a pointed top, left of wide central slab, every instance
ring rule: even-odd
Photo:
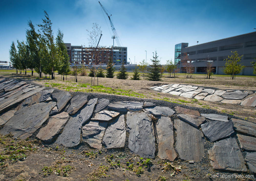
[[[112,124],[106,129],[102,143],[105,148],[123,148],[125,143],[126,131],[124,115],[116,118]]]

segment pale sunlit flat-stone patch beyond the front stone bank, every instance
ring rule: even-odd
[[[168,93],[171,95],[178,95],[186,98],[194,98],[209,102],[241,104],[242,106],[250,107],[256,106],[256,92],[253,93],[253,91],[242,92],[240,90],[214,90],[182,84],[155,86],[150,87],[150,89],[153,89],[155,91],[161,91],[162,93]]]

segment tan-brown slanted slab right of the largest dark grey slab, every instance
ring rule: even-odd
[[[41,128],[36,137],[44,142],[51,142],[52,139],[60,133],[69,115],[67,112],[56,114],[49,118],[48,124]]]

